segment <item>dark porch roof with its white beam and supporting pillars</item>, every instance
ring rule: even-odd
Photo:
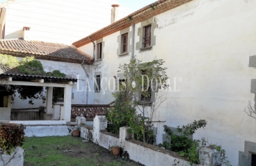
[[[64,88],[64,104],[61,109],[61,120],[70,122],[72,87],[75,78],[51,77],[42,75],[22,75],[22,74],[0,74],[0,84],[20,85],[20,86],[47,86],[47,113],[53,113],[52,97],[54,87]]]

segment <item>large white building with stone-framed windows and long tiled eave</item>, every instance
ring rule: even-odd
[[[256,55],[255,7],[254,0],[161,0],[73,44],[95,59],[90,82],[118,76],[118,66],[132,56],[163,59],[177,91],[159,107],[157,142],[163,124],[205,119],[207,127],[193,138],[222,145],[232,165],[248,165],[256,154],[256,122],[243,112],[255,100],[250,90],[256,71],[248,66]],[[109,89],[88,96],[90,104],[113,101]]]

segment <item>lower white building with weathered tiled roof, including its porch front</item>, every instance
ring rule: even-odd
[[[20,75],[19,73],[0,72],[0,84],[14,84],[25,86],[43,86],[49,87],[46,92],[46,103],[42,100],[34,100],[34,105],[29,104],[29,100],[20,100],[19,94],[14,98],[14,103],[10,103],[10,96],[0,93],[0,120],[19,120],[10,117],[11,109],[31,109],[36,107],[46,107],[46,113],[56,117],[53,120],[65,120],[64,123],[70,122],[71,104],[87,104],[86,93],[77,91],[77,75],[80,75],[79,82],[85,84],[86,72],[90,71],[90,66],[93,64],[93,57],[81,52],[75,46],[65,44],[56,44],[40,41],[26,41],[24,39],[2,39],[0,40],[0,53],[4,55],[12,55],[21,60],[24,57],[35,57],[39,60],[45,72],[54,70],[65,73],[66,77],[48,77],[42,75]],[[1,57],[0,57],[1,59]],[[1,70],[0,70],[1,71]],[[58,100],[54,108],[52,102],[52,94],[54,87],[63,87],[65,90],[64,96]],[[63,110],[63,116],[60,117],[61,107],[67,104]],[[37,109],[38,110],[38,109]],[[44,109],[45,110],[45,109]],[[54,112],[56,110],[56,112]],[[67,114],[67,113],[69,114]],[[66,116],[65,116],[66,115]],[[28,115],[30,116],[30,115]],[[33,120],[31,114],[31,120]],[[37,117],[38,118],[38,117]],[[38,120],[35,118],[35,120]]]

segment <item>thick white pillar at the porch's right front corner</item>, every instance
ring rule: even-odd
[[[61,118],[70,122],[71,119],[71,98],[72,98],[72,85],[66,84],[64,89],[64,105],[63,111],[61,111]]]

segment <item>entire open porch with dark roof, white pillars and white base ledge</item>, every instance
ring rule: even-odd
[[[1,85],[18,86],[43,86],[47,88],[46,94],[46,114],[52,115],[48,120],[10,120],[12,109],[11,96],[3,95],[0,98],[0,122],[22,123],[22,124],[69,124],[71,120],[71,100],[72,87],[77,79],[71,77],[52,77],[42,75],[20,75],[20,74],[0,74]],[[64,88],[64,101],[59,110],[54,111],[52,98],[54,87]],[[54,113],[58,114],[58,120],[54,120]]]

